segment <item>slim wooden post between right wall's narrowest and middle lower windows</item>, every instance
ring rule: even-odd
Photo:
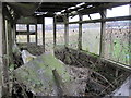
[[[80,19],[80,21],[82,21],[82,15],[80,14],[79,15],[79,19]],[[79,45],[78,45],[78,49],[79,50],[82,50],[82,23],[79,23]]]

